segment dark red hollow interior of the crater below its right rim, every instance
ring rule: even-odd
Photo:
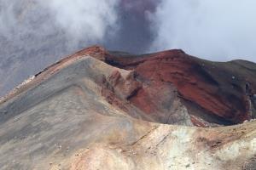
[[[127,100],[157,122],[172,122],[170,111],[177,99],[196,126],[228,125],[252,118],[245,86],[249,82],[254,91],[255,82],[247,78],[250,71],[238,74],[237,65],[196,59],[182,50],[140,56],[125,54],[125,57],[117,53],[102,54],[105,54],[102,60],[108,64],[136,71],[137,82],[142,87]],[[255,71],[250,74],[255,75]],[[117,75],[113,73],[113,77]],[[114,83],[118,81],[115,78]],[[127,87],[119,86],[119,91],[122,88]]]

